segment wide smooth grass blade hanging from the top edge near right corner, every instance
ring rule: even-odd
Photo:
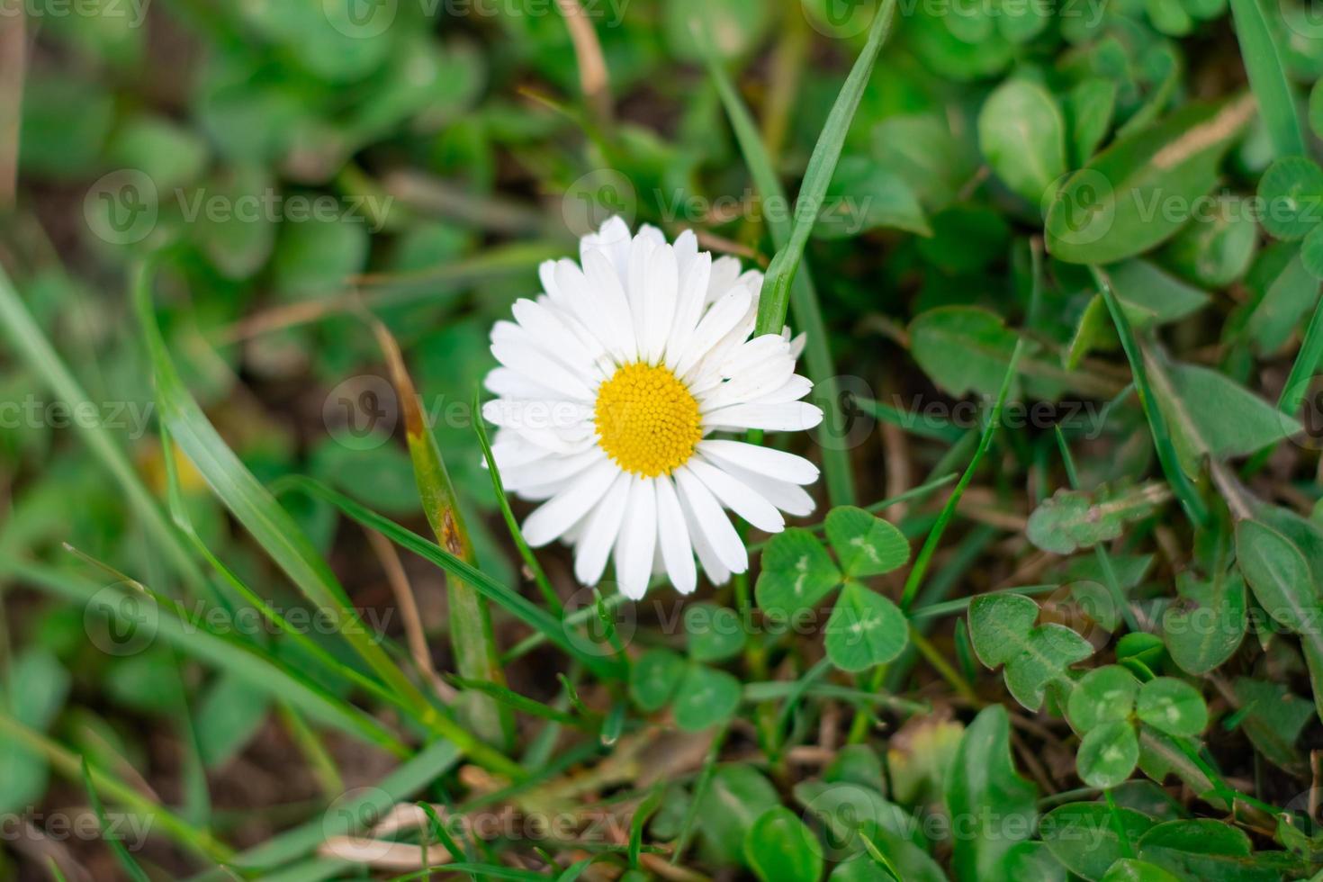
[[[1241,58],[1249,74],[1250,90],[1258,102],[1258,112],[1273,141],[1273,153],[1304,156],[1304,131],[1295,110],[1295,97],[1286,77],[1282,49],[1273,33],[1263,0],[1230,0],[1240,40]],[[1275,4],[1270,7],[1277,12]],[[1279,12],[1277,12],[1281,16]]]

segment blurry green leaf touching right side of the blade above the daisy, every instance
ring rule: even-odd
[[[843,157],[824,198],[814,238],[853,238],[878,227],[933,234],[909,182],[871,157]]]

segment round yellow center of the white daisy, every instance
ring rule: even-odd
[[[602,383],[594,410],[606,455],[643,477],[669,475],[703,438],[699,402],[662,365],[623,365]]]

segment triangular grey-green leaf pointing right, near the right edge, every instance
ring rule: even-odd
[[[1204,456],[1245,456],[1302,431],[1282,414],[1226,374],[1179,362],[1146,358],[1158,407],[1167,418],[1181,468],[1203,471]]]

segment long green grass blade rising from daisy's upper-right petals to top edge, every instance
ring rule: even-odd
[[[845,132],[849,130],[859,102],[864,97],[864,87],[872,75],[877,54],[890,33],[894,12],[896,0],[884,0],[877,9],[873,24],[868,29],[864,50],[859,53],[855,66],[851,67],[849,75],[845,78],[845,85],[836,95],[836,102],[827,115],[822,135],[818,136],[814,152],[808,157],[804,181],[799,188],[799,197],[795,200],[795,222],[791,226],[790,238],[785,247],[777,251],[762,283],[762,300],[758,304],[758,325],[754,333],[779,333],[786,324],[790,284],[799,270],[799,262],[804,257],[804,246],[808,243],[808,234],[818,221],[818,212],[836,171],[836,160],[840,159],[840,151],[845,145]]]

